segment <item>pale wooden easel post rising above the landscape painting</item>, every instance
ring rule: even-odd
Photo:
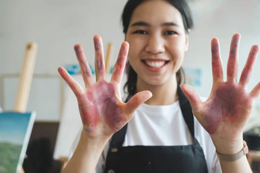
[[[13,111],[25,113],[33,78],[33,71],[37,53],[37,44],[28,43],[25,49],[23,66],[19,77],[19,85],[16,93]],[[20,173],[24,173],[23,168]]]

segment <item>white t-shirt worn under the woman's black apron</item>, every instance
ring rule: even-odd
[[[204,151],[208,173],[222,173],[212,140],[196,118],[194,118],[194,130],[195,137]],[[171,105],[163,106],[142,104],[128,123],[123,146],[189,145],[192,142],[192,136],[183,118],[179,101],[176,101]],[[104,173],[108,147],[109,142],[99,159],[96,173]]]

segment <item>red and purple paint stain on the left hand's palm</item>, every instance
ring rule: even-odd
[[[100,126],[109,127],[111,130],[119,130],[121,123],[126,122],[126,116],[120,111],[115,96],[113,84],[100,81],[91,88],[88,88],[83,97],[88,104],[79,105],[82,121],[85,129],[94,131]]]

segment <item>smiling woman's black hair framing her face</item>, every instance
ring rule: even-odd
[[[141,3],[143,3],[144,1],[146,0],[128,0],[126,2],[121,16],[124,34],[127,33],[129,23],[135,8]],[[193,19],[192,19],[191,10],[187,2],[185,0],[165,0],[165,1],[169,2],[181,13],[185,32],[186,34],[189,34],[190,29],[193,28]],[[124,90],[127,87],[127,92],[133,95],[136,92],[137,74],[129,63],[127,64],[126,68],[127,68],[127,81],[124,85]],[[185,83],[185,73],[182,67],[177,71],[176,78],[178,84]]]

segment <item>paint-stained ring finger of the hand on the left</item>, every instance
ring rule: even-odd
[[[91,73],[91,69],[89,67],[89,64],[87,62],[84,50],[80,44],[74,45],[74,51],[76,53],[80,70],[81,70],[81,75],[85,84],[85,87],[93,83],[93,76]]]

